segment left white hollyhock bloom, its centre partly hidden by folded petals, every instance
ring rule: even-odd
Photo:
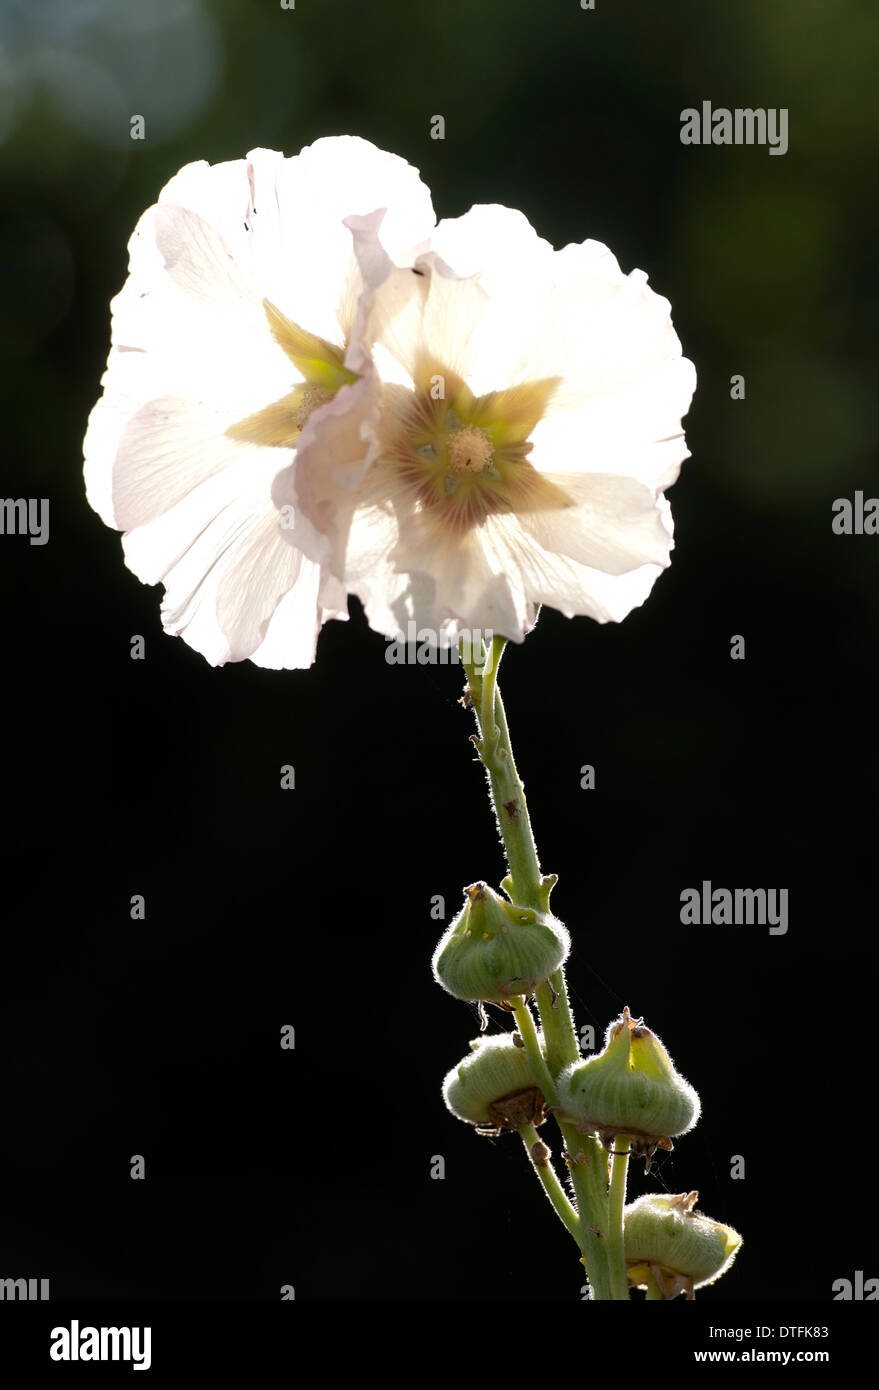
[[[426,245],[430,193],[396,156],[330,138],[188,164],[129,242],[86,492],[129,569],[164,584],[166,631],[213,664],[309,666],[321,623],[346,617],[345,587],[284,537],[273,486],[289,491],[299,446],[330,477],[366,466],[380,385],[344,218],[376,210],[381,279]]]

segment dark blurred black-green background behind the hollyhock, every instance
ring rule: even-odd
[[[519,207],[672,302],[700,379],[672,569],[620,626],[544,612],[502,669],[513,741],[577,1022],[601,1037],[629,1004],[701,1093],[697,1130],[630,1184],[697,1187],[743,1233],[701,1297],[826,1301],[879,1275],[879,538],[830,530],[833,499],[879,492],[878,53],[868,0],[3,0],[4,493],[49,496],[51,532],[0,539],[1,1277],[580,1297],[519,1141],[440,1094],[477,1020],[431,980],[430,899],[451,915],[502,876],[459,673],[388,666],[356,602],[310,671],[213,670],[161,634],[160,591],[82,489],[140,211],[189,160],[332,133],[405,156],[438,215]],[[702,99],[787,107],[789,153],[682,146]],[[787,935],[682,926],[702,878],[787,887]]]

